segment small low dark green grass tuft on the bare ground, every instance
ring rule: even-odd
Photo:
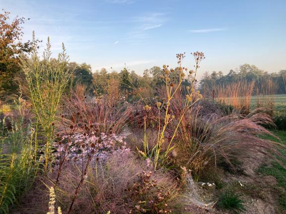
[[[233,191],[225,190],[224,192],[220,193],[217,206],[225,210],[230,210],[235,214],[244,212],[245,206],[241,196],[242,195],[239,195]]]

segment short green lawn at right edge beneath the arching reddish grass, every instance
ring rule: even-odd
[[[282,142],[286,145],[286,131],[274,131],[274,133],[278,137],[280,137]],[[276,140],[276,139],[272,138],[271,140]],[[282,150],[281,153],[286,157],[286,149]],[[282,162],[284,166],[286,166],[286,160],[282,160]],[[278,162],[273,161],[271,166],[262,165],[258,169],[258,171],[265,175],[274,176],[278,181],[278,185],[283,187],[286,190],[286,169],[283,166],[281,166]],[[286,210],[286,194],[285,193],[281,193],[279,203],[284,208],[284,210]]]

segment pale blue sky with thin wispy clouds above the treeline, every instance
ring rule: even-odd
[[[70,60],[93,71],[126,66],[142,75],[175,67],[184,52],[191,69],[194,51],[206,56],[199,77],[244,63],[286,69],[286,0],[0,0],[0,8],[30,18],[24,40],[34,30],[44,46],[50,36],[54,56],[64,42]]]

